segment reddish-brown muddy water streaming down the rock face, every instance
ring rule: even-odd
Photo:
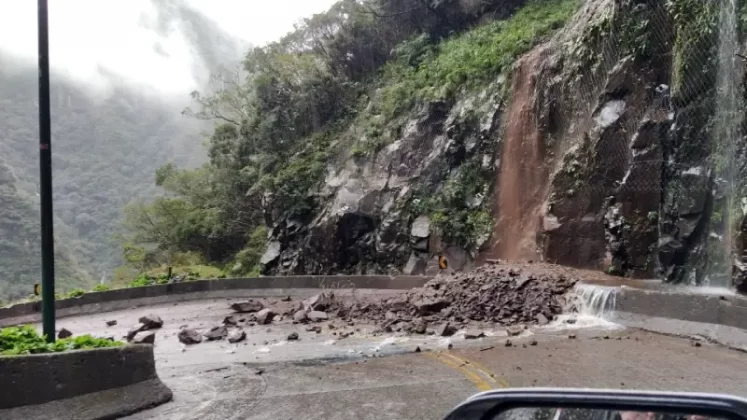
[[[536,234],[547,194],[545,147],[534,112],[535,89],[545,48],[535,48],[516,66],[512,103],[498,175],[498,222],[494,256],[507,260],[538,259]]]

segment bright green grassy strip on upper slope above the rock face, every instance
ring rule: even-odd
[[[373,106],[358,116],[359,124],[368,129],[363,145],[354,150],[380,150],[390,137],[383,129],[384,122],[394,122],[416,104],[474,91],[510,72],[522,54],[562,28],[578,5],[578,0],[533,0],[506,20],[477,27],[426,50],[415,65],[409,55],[390,61],[381,70]]]

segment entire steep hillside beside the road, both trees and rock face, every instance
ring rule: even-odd
[[[234,274],[419,274],[446,255],[730,285],[729,7],[342,0],[199,97],[210,162],[159,171],[171,195],[129,214],[130,239]]]

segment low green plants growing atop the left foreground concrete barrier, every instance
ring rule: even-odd
[[[119,341],[90,335],[63,338],[54,343],[47,343],[44,336],[39,335],[30,325],[0,329],[0,355],[3,356],[118,347],[123,344]]]

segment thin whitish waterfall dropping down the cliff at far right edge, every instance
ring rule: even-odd
[[[738,0],[721,0],[719,12],[718,75],[716,86],[716,125],[714,127],[714,153],[717,157],[716,173],[724,193],[720,208],[724,223],[722,248],[711,255],[713,269],[708,276],[711,286],[729,287],[733,255],[733,221],[738,214],[737,205],[737,143],[741,137],[741,75],[742,60],[737,25]]]

